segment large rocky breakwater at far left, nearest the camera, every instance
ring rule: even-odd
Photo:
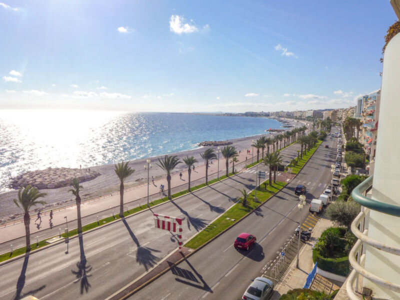
[[[35,186],[38,189],[58,188],[72,184],[73,178],[79,182],[88,181],[99,176],[100,173],[88,169],[48,167],[44,170],[28,171],[17,177],[11,178],[10,188],[20,188],[26,185]]]

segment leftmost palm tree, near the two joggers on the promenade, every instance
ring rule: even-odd
[[[37,200],[40,197],[44,197],[46,193],[39,192],[36,187],[27,185],[25,188],[21,187],[18,190],[18,198],[14,199],[14,203],[18,207],[23,209],[23,224],[25,225],[25,238],[26,238],[26,252],[30,251],[30,215],[29,209],[37,204],[45,204],[45,201]]]

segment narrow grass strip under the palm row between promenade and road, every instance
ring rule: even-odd
[[[233,173],[229,173],[229,176],[231,176],[231,175],[233,175]],[[212,183],[215,183],[215,182],[218,182],[218,181],[220,181],[220,180],[223,180],[223,179],[225,179],[225,178],[226,178],[226,175],[222,175],[222,176],[219,176],[219,179],[214,178],[214,179],[208,180],[208,185],[210,185],[210,184],[212,184]],[[199,189],[199,188],[204,187],[204,186],[206,186],[205,182],[204,182],[204,183],[201,183],[201,184],[198,184],[198,185],[195,185],[195,186],[192,186],[192,187],[190,188],[190,190],[191,190],[191,191],[194,191],[194,190]],[[172,194],[171,197],[172,197],[172,199],[173,199],[173,198],[176,198],[176,197],[178,197],[178,196],[184,195],[184,194],[186,194],[186,193],[188,193],[188,192],[189,192],[189,191],[188,191],[187,189],[185,189],[185,190],[182,190],[182,191],[179,191],[179,192],[176,192],[176,193]],[[168,200],[168,197],[165,196],[165,197],[162,197],[162,198],[160,198],[160,199],[153,200],[153,201],[149,202],[148,204],[149,204],[149,206],[151,207],[151,206],[160,204],[160,203],[162,203],[162,202],[166,202],[167,200]],[[125,205],[126,205],[126,204],[125,204]],[[125,206],[125,207],[126,207],[126,206]],[[146,208],[147,208],[147,205],[146,205],[146,204],[140,204],[139,206],[133,207],[132,209],[127,209],[126,211],[123,212],[123,215],[124,215],[124,216],[128,216],[128,215],[130,215],[130,214],[132,214],[132,213],[135,213],[135,212],[144,210],[144,209],[146,209]],[[119,209],[118,209],[118,211],[119,211]],[[114,214],[114,215],[111,215],[111,216],[108,216],[108,217],[99,219],[98,222],[95,221],[95,222],[88,223],[88,224],[82,226],[82,231],[84,232],[84,231],[93,229],[93,228],[95,228],[95,227],[99,227],[99,226],[104,225],[104,224],[106,224],[106,223],[115,221],[115,220],[117,220],[117,219],[119,219],[119,218],[120,218],[120,217],[119,217],[118,212],[117,212],[117,213]],[[77,234],[78,234],[78,231],[77,231],[77,228],[75,228],[75,229],[72,229],[72,230],[70,230],[70,231],[68,232],[68,237],[72,237],[72,236],[77,235]],[[58,236],[58,235],[57,235],[57,236]],[[62,233],[61,236],[64,237],[64,238],[67,237],[67,236],[66,236],[66,233]],[[48,245],[48,243],[46,243],[46,240],[47,240],[47,239],[50,239],[50,238],[51,238],[51,237],[46,238],[46,239],[43,239],[43,240],[40,240],[38,243],[32,243],[32,244],[30,245],[31,251],[32,251],[32,250],[35,250],[35,249],[38,249],[38,248],[41,248],[41,247],[43,247],[43,246],[45,246],[45,245]],[[18,255],[24,254],[25,252],[26,252],[26,246],[23,246],[23,247],[14,249],[12,252],[10,251],[10,252],[6,252],[6,253],[3,253],[3,254],[0,254],[0,262],[1,262],[1,261],[4,261],[4,260],[7,260],[7,259],[10,259],[10,258],[12,258],[12,257],[18,256]]]

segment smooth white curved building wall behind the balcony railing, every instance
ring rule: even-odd
[[[373,171],[372,198],[400,205],[400,33],[387,44],[382,73],[379,126]],[[365,223],[368,236],[400,247],[400,217],[370,211]],[[366,247],[365,268],[373,274],[400,284],[400,256]],[[393,292],[364,279],[374,298],[400,299]]]

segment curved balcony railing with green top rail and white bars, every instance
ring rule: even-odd
[[[364,219],[369,214],[370,210],[375,210],[394,216],[400,216],[400,206],[383,203],[365,196],[366,191],[369,190],[371,187],[372,187],[372,176],[369,176],[363,182],[358,184],[351,193],[353,199],[357,203],[363,206],[361,208],[361,212],[355,217],[355,219],[351,223],[351,231],[358,238],[358,240],[355,242],[354,246],[352,247],[348,255],[348,259],[353,269],[348,275],[346,283],[346,291],[351,300],[359,299],[359,297],[353,291],[354,280],[356,280],[355,291],[359,292],[359,283],[358,283],[359,276],[365,277],[370,281],[374,282],[375,284],[382,286],[383,288],[400,292],[400,284],[376,276],[375,274],[367,271],[364,268],[364,262],[365,262],[365,253],[364,253],[365,247],[363,247],[364,243],[376,249],[386,251],[391,254],[400,255],[399,247],[387,245],[386,243],[370,238],[367,235],[368,229],[364,228]]]

